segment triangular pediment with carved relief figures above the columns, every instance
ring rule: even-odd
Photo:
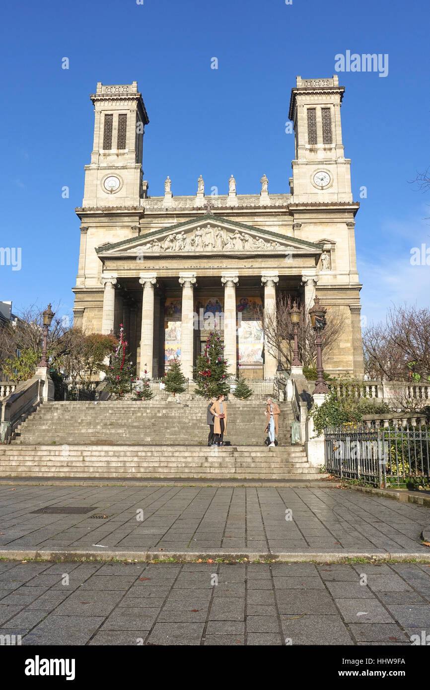
[[[152,233],[97,248],[100,257],[130,257],[141,253],[321,253],[321,246],[207,213]]]

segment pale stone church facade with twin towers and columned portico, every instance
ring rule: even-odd
[[[94,145],[76,209],[74,326],[117,333],[122,323],[138,372],[162,376],[178,357],[190,378],[215,327],[231,373],[240,364],[246,377],[262,379],[275,375],[277,359],[257,314],[275,313],[279,291],[307,308],[317,293],[327,319],[332,310],[342,317],[340,341],[324,368],[362,376],[359,204],[342,144],[343,94],[338,75],[297,77],[289,109],[295,141],[289,193],[271,193],[264,174],[257,193],[237,194],[231,175],[226,194],[214,197],[196,175],[190,196],[175,196],[167,177],[164,196],[150,197],[142,179],[149,119],[137,82],[97,83]]]

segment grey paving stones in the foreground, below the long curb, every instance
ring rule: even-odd
[[[23,645],[411,645],[430,565],[0,562]]]

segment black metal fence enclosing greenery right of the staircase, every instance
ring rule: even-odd
[[[324,429],[326,470],[367,484],[418,486],[430,481],[430,426]]]

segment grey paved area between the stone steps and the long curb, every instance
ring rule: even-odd
[[[34,512],[45,506],[92,510],[79,515]],[[429,524],[425,507],[344,489],[0,486],[0,552],[222,549],[428,555],[420,533]]]

